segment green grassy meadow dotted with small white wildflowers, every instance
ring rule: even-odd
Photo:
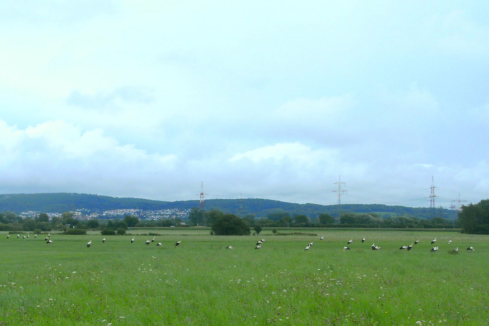
[[[51,244],[46,235],[7,239],[1,233],[0,325],[489,324],[487,236],[317,229],[245,237],[190,228],[129,232],[51,234]],[[150,232],[159,235],[145,245],[153,236],[143,234]],[[431,253],[434,238],[440,249]],[[259,239],[266,241],[255,250]],[[350,239],[351,250],[343,250]],[[417,239],[411,251],[399,250]],[[381,249],[371,250],[372,243]]]

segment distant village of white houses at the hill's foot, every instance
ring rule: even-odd
[[[116,210],[103,211],[103,212],[98,212],[98,211],[92,212],[86,209],[78,209],[72,213],[73,213],[73,217],[79,220],[88,220],[93,218],[119,219],[119,218],[124,218],[126,215],[135,216],[138,217],[139,219],[146,219],[146,220],[173,219],[173,218],[178,218],[180,220],[183,220],[188,218],[190,211],[191,211],[190,209],[180,210],[178,208],[154,210],[154,211],[144,211],[138,209],[116,209]],[[20,217],[34,218],[40,213],[44,213],[44,212],[33,212],[33,211],[22,212]],[[61,213],[46,213],[46,214],[49,217],[49,220],[51,220],[51,218],[53,217],[61,217]]]

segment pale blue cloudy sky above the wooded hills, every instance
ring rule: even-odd
[[[487,17],[485,0],[3,0],[0,194],[430,207],[433,180],[436,207],[478,203]]]

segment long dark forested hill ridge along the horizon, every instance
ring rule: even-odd
[[[162,210],[170,208],[190,209],[199,206],[198,200],[160,201],[141,198],[119,198],[110,196],[51,193],[51,194],[8,194],[0,195],[0,212],[12,211],[17,214],[27,211],[43,213],[63,213],[74,209],[107,211],[115,209]],[[219,209],[224,213],[237,215],[255,214],[266,217],[269,213],[288,212],[290,215],[306,215],[316,218],[327,213],[339,216],[341,213],[376,213],[381,217],[409,215],[429,218],[430,209],[426,207],[387,206],[380,204],[296,204],[279,200],[246,199],[206,199],[205,210]],[[435,216],[449,219],[457,218],[457,212],[436,208]]]

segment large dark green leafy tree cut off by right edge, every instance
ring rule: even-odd
[[[489,234],[489,199],[483,199],[478,204],[463,205],[458,216],[464,233]]]

